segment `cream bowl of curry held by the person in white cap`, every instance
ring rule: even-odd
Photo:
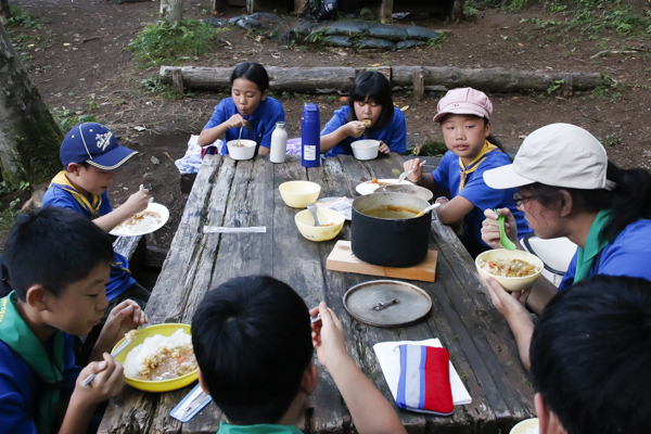
[[[475,259],[482,279],[493,278],[507,291],[531,286],[542,272],[542,260],[524,251],[498,248],[480,254]]]

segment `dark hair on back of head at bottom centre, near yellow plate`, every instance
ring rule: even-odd
[[[192,344],[208,391],[230,421],[277,423],[311,360],[309,312],[286,283],[268,276],[231,279],[201,303]]]

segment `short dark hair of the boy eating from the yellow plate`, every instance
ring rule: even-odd
[[[20,215],[4,245],[11,285],[23,302],[34,284],[59,296],[114,257],[106,232],[80,214],[54,206]]]

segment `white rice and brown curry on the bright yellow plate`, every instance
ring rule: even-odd
[[[138,380],[163,381],[186,375],[197,369],[192,339],[183,330],[171,336],[155,334],[129,352],[125,375]]]

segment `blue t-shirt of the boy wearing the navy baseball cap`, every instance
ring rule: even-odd
[[[77,202],[71,193],[58,186],[52,186],[48,189],[48,191],[46,191],[46,194],[43,195],[43,206],[68,208],[81,214],[89,220],[92,218],[92,215],[88,209],[82,207],[81,204],[79,204],[79,202]],[[112,210],[113,207],[108,202],[108,196],[106,195],[106,192],[103,192],[102,203],[100,205],[100,216],[105,216]],[[108,284],[106,284],[106,298],[108,302],[127,291],[133,283],[136,283],[136,279],[133,279],[131,273],[127,271],[128,269],[129,261],[127,258],[116,252],[113,264],[111,264],[111,278],[108,279]]]

